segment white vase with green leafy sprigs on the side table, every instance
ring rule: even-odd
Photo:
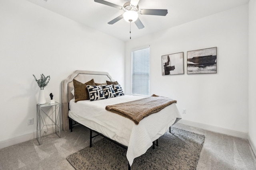
[[[38,86],[40,87],[39,96],[38,96],[38,104],[45,104],[46,99],[44,95],[44,88],[47,86],[47,84],[50,81],[50,76],[44,76],[44,74],[41,74],[40,79],[37,79],[36,76],[33,74]]]

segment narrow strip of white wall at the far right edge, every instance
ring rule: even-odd
[[[249,2],[249,138],[256,148],[256,0]],[[254,150],[256,153],[256,150]]]

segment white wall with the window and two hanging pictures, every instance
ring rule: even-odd
[[[255,18],[254,18],[255,19]],[[126,94],[131,50],[150,45],[150,94],[178,101],[182,119],[248,133],[248,5],[126,42]],[[186,74],[187,51],[217,47],[217,74]],[[161,56],[184,52],[185,74],[162,76]]]

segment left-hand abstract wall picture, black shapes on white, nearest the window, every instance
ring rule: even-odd
[[[162,55],[162,76],[184,74],[184,53]]]

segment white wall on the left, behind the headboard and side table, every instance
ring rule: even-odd
[[[124,84],[123,41],[26,0],[1,0],[0,25],[0,144],[36,131],[32,74],[51,76],[46,97],[58,102],[61,81],[74,70],[106,71]]]

